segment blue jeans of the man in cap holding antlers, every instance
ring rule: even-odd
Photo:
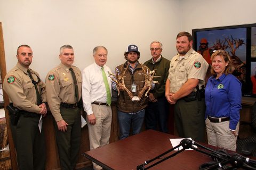
[[[141,126],[145,117],[145,109],[137,114],[124,113],[117,110],[118,122],[119,122],[119,139],[125,139],[129,137],[130,128],[132,123],[132,134],[140,133]]]

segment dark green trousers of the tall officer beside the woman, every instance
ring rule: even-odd
[[[174,105],[174,121],[179,136],[205,142],[205,100],[186,102],[183,99]]]

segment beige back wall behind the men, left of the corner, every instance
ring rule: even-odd
[[[59,64],[59,48],[70,44],[75,63],[81,70],[94,60],[92,50],[103,45],[108,51],[107,65],[124,63],[124,51],[138,45],[141,62],[148,60],[149,44],[162,41],[163,55],[175,54],[175,35],[180,30],[177,18],[180,2],[171,0],[0,0],[7,71],[17,63],[15,51],[28,44],[34,52],[31,68],[42,80]]]

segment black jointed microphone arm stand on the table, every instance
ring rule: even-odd
[[[197,146],[198,148],[203,148],[207,151],[211,151],[211,152],[207,152],[204,150],[200,150],[198,148],[195,148],[193,145]],[[161,158],[162,156],[168,154],[169,152],[173,151],[176,148],[179,148],[182,146],[181,150],[178,150],[177,152],[174,152],[172,155],[167,156],[165,158],[162,158],[161,160],[159,160],[158,162],[154,163],[153,165],[150,165],[148,167],[145,167],[145,165],[148,165],[149,163],[153,162],[154,160]],[[211,169],[217,169],[217,168],[221,168],[221,169],[237,169],[239,167],[242,167],[244,169],[252,169],[252,170],[256,170],[256,160],[252,160],[249,158],[246,158],[242,155],[236,154],[236,153],[231,153],[231,154],[225,154],[223,152],[217,151],[217,150],[213,150],[210,148],[207,148],[203,145],[200,145],[199,143],[192,141],[190,139],[183,139],[179,145],[175,146],[172,149],[167,150],[166,152],[164,152],[163,154],[153,158],[153,159],[149,159],[146,160],[143,164],[138,165],[137,166],[137,170],[145,170],[145,169],[149,169],[159,163],[164,162],[166,159],[169,159],[175,155],[178,155],[180,152],[186,150],[186,149],[193,149],[196,150],[198,152],[201,152],[202,154],[211,156],[212,158],[217,158],[218,160],[221,160],[221,162],[211,162],[210,163],[206,163],[209,164],[207,167],[205,168],[200,168],[200,169],[204,169],[204,170],[211,170]],[[232,166],[226,167],[225,165],[231,164]]]

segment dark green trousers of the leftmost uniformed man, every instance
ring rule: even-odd
[[[41,133],[39,132],[39,118],[40,115],[36,117],[21,115],[17,125],[10,123],[18,167],[21,170],[45,169],[45,139],[43,129]]]

